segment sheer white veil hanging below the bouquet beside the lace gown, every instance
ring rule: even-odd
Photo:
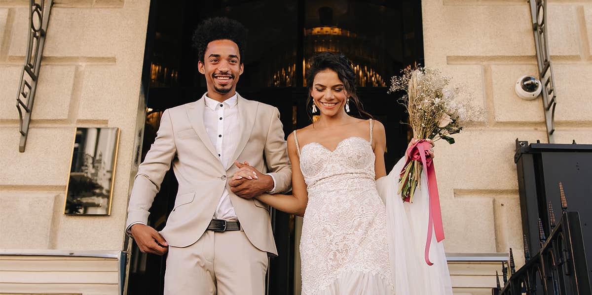
[[[376,181],[387,206],[388,250],[395,294],[452,295],[452,284],[442,242],[432,237],[429,266],[424,261],[429,195],[426,171],[422,172],[413,203],[404,203],[397,193],[399,173],[406,162],[401,158],[391,172]]]

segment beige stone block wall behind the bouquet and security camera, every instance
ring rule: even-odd
[[[446,252],[507,252],[524,262],[516,138],[547,142],[540,98],[514,93],[520,76],[538,76],[529,3],[523,0],[424,0],[426,65],[466,85],[485,110],[481,122],[437,144]],[[592,2],[549,0],[549,47],[557,107],[555,142],[592,143]],[[491,277],[491,286],[495,279]],[[490,294],[455,283],[457,294]],[[469,288],[470,287],[470,288]],[[481,293],[480,293],[481,292]]]

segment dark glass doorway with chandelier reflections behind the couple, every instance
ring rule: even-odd
[[[147,112],[142,159],[167,108],[200,98],[205,79],[197,72],[192,33],[205,18],[226,16],[249,29],[244,73],[237,86],[244,98],[276,106],[284,133],[310,124],[305,106],[306,61],[319,51],[340,51],[358,74],[358,95],[366,111],[387,130],[387,170],[408,141],[404,111],[387,94],[390,77],[423,64],[421,2],[305,0],[152,0],[142,84]],[[352,110],[355,113],[355,109]],[[165,226],[177,183],[169,171],[150,209],[149,225]],[[295,218],[272,210],[279,257],[272,258],[268,294],[294,294]],[[142,254],[133,244],[127,294],[162,294],[166,257]]]

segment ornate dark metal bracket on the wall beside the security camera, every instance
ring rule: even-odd
[[[557,105],[555,95],[555,80],[553,79],[553,67],[549,55],[549,41],[547,30],[547,1],[528,0],[530,4],[530,17],[532,18],[532,29],[535,34],[536,61],[539,64],[539,78],[543,84],[540,93],[543,97],[543,108],[545,108],[545,123],[547,127],[547,138],[549,143],[554,143],[553,132],[555,132],[555,106]]]

